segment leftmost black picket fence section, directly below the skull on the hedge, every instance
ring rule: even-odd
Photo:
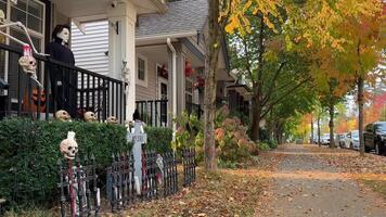
[[[83,164],[77,157],[75,165],[72,161],[59,167],[59,188],[61,191],[61,216],[66,212],[70,216],[98,216],[100,212],[100,193],[97,188],[95,157],[85,157]]]

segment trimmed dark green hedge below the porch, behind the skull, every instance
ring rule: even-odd
[[[126,128],[120,125],[1,120],[0,197],[17,203],[11,205],[56,200],[56,162],[63,159],[59,144],[70,130],[76,132],[79,155],[94,154],[99,171],[108,166],[112,153],[131,148],[126,143]],[[170,149],[171,129],[146,127],[145,131],[149,148],[158,152]],[[15,188],[17,191],[13,191]]]

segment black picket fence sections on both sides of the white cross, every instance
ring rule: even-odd
[[[195,181],[195,155],[192,150],[185,150],[183,153],[183,186],[188,187]],[[107,168],[106,182],[106,199],[113,213],[137,201],[151,201],[178,192],[179,180],[175,152],[159,154],[154,151],[144,151],[141,169],[142,184],[138,191],[132,154],[128,152],[113,155],[112,164]]]

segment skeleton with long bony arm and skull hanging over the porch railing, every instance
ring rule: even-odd
[[[21,28],[24,31],[24,35],[27,37],[29,44],[1,30],[2,28],[11,26],[16,26]],[[39,82],[36,76],[37,64],[36,59],[33,55],[33,51],[38,55],[47,54],[39,53],[36,50],[33,40],[30,39],[30,36],[27,31],[27,28],[21,22],[8,22],[4,18],[4,13],[0,10],[0,35],[3,35],[9,39],[14,40],[15,42],[23,46],[23,56],[18,59],[18,65],[22,66],[24,73],[26,73],[38,86],[42,88],[43,86]]]

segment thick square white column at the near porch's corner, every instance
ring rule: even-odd
[[[136,110],[136,7],[129,2],[107,9],[110,76],[121,80],[124,62],[127,63],[126,119],[131,120]]]

